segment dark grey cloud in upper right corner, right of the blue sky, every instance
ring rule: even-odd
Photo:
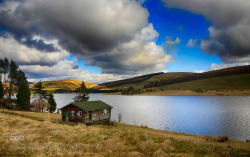
[[[224,62],[250,61],[249,0],[164,0],[166,7],[204,15],[213,25],[201,49],[217,54]]]

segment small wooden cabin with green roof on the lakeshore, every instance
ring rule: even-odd
[[[85,125],[109,124],[113,107],[102,101],[72,102],[60,110],[62,120],[82,122]]]

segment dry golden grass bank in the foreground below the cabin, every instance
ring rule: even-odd
[[[49,121],[48,119],[51,119]],[[58,114],[4,110],[0,156],[248,156],[250,143],[115,123],[64,123]],[[22,137],[13,140],[12,137]]]

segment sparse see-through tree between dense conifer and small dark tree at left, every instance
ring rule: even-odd
[[[34,95],[35,97],[38,98],[36,100],[34,100],[34,104],[36,104],[35,108],[37,111],[41,111],[42,109],[44,109],[45,107],[47,107],[47,92],[45,90],[43,90],[43,85],[42,82],[39,81],[38,83],[36,83],[34,85]]]

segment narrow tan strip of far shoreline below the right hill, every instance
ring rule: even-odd
[[[107,95],[122,95],[121,92],[116,93],[106,93]],[[165,90],[165,91],[156,91],[148,92],[141,94],[132,94],[132,95],[172,95],[172,96],[184,96],[184,95],[193,95],[193,96],[250,96],[250,89],[241,89],[241,90],[207,90],[202,92],[196,92],[192,90]]]

